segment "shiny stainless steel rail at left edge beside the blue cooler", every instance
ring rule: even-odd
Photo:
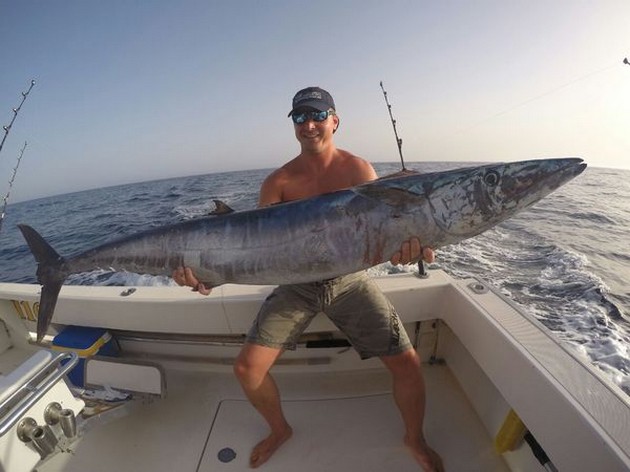
[[[59,367],[61,362],[68,359],[68,362]],[[37,403],[48,391],[66,375],[79,362],[79,356],[75,352],[56,353],[37,372],[29,376],[18,389],[0,403],[0,412],[14,403],[9,411],[0,418],[0,437],[9,431],[24,414]],[[48,370],[55,369],[48,373],[43,379],[41,376]],[[22,398],[21,398],[22,397]],[[21,398],[21,399],[20,399]]]

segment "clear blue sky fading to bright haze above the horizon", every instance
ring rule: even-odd
[[[372,162],[579,156],[630,168],[630,1],[0,0],[11,201],[299,152],[294,93],[330,91]],[[413,167],[413,166],[411,166]]]

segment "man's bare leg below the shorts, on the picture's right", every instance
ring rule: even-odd
[[[381,360],[392,373],[394,399],[405,423],[405,444],[425,472],[442,472],[442,459],[428,446],[422,430],[425,389],[416,351],[408,349]]]

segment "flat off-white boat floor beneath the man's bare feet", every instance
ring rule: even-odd
[[[426,435],[446,469],[509,470],[448,367],[425,365],[424,373]],[[386,371],[280,373],[276,380],[294,435],[261,469],[419,470],[402,443],[402,420]],[[326,391],[321,387],[333,380],[335,394],[314,394]],[[169,372],[168,386],[168,398],[90,431],[64,470],[251,470],[249,453],[265,437],[267,427],[244,399],[235,378],[229,373],[204,378],[198,372]],[[62,458],[63,454],[58,456]]]

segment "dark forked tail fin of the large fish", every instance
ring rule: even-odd
[[[37,261],[37,280],[42,284],[42,295],[37,315],[37,341],[41,341],[52,321],[59,291],[68,276],[65,259],[42,236],[28,225],[18,225]]]

